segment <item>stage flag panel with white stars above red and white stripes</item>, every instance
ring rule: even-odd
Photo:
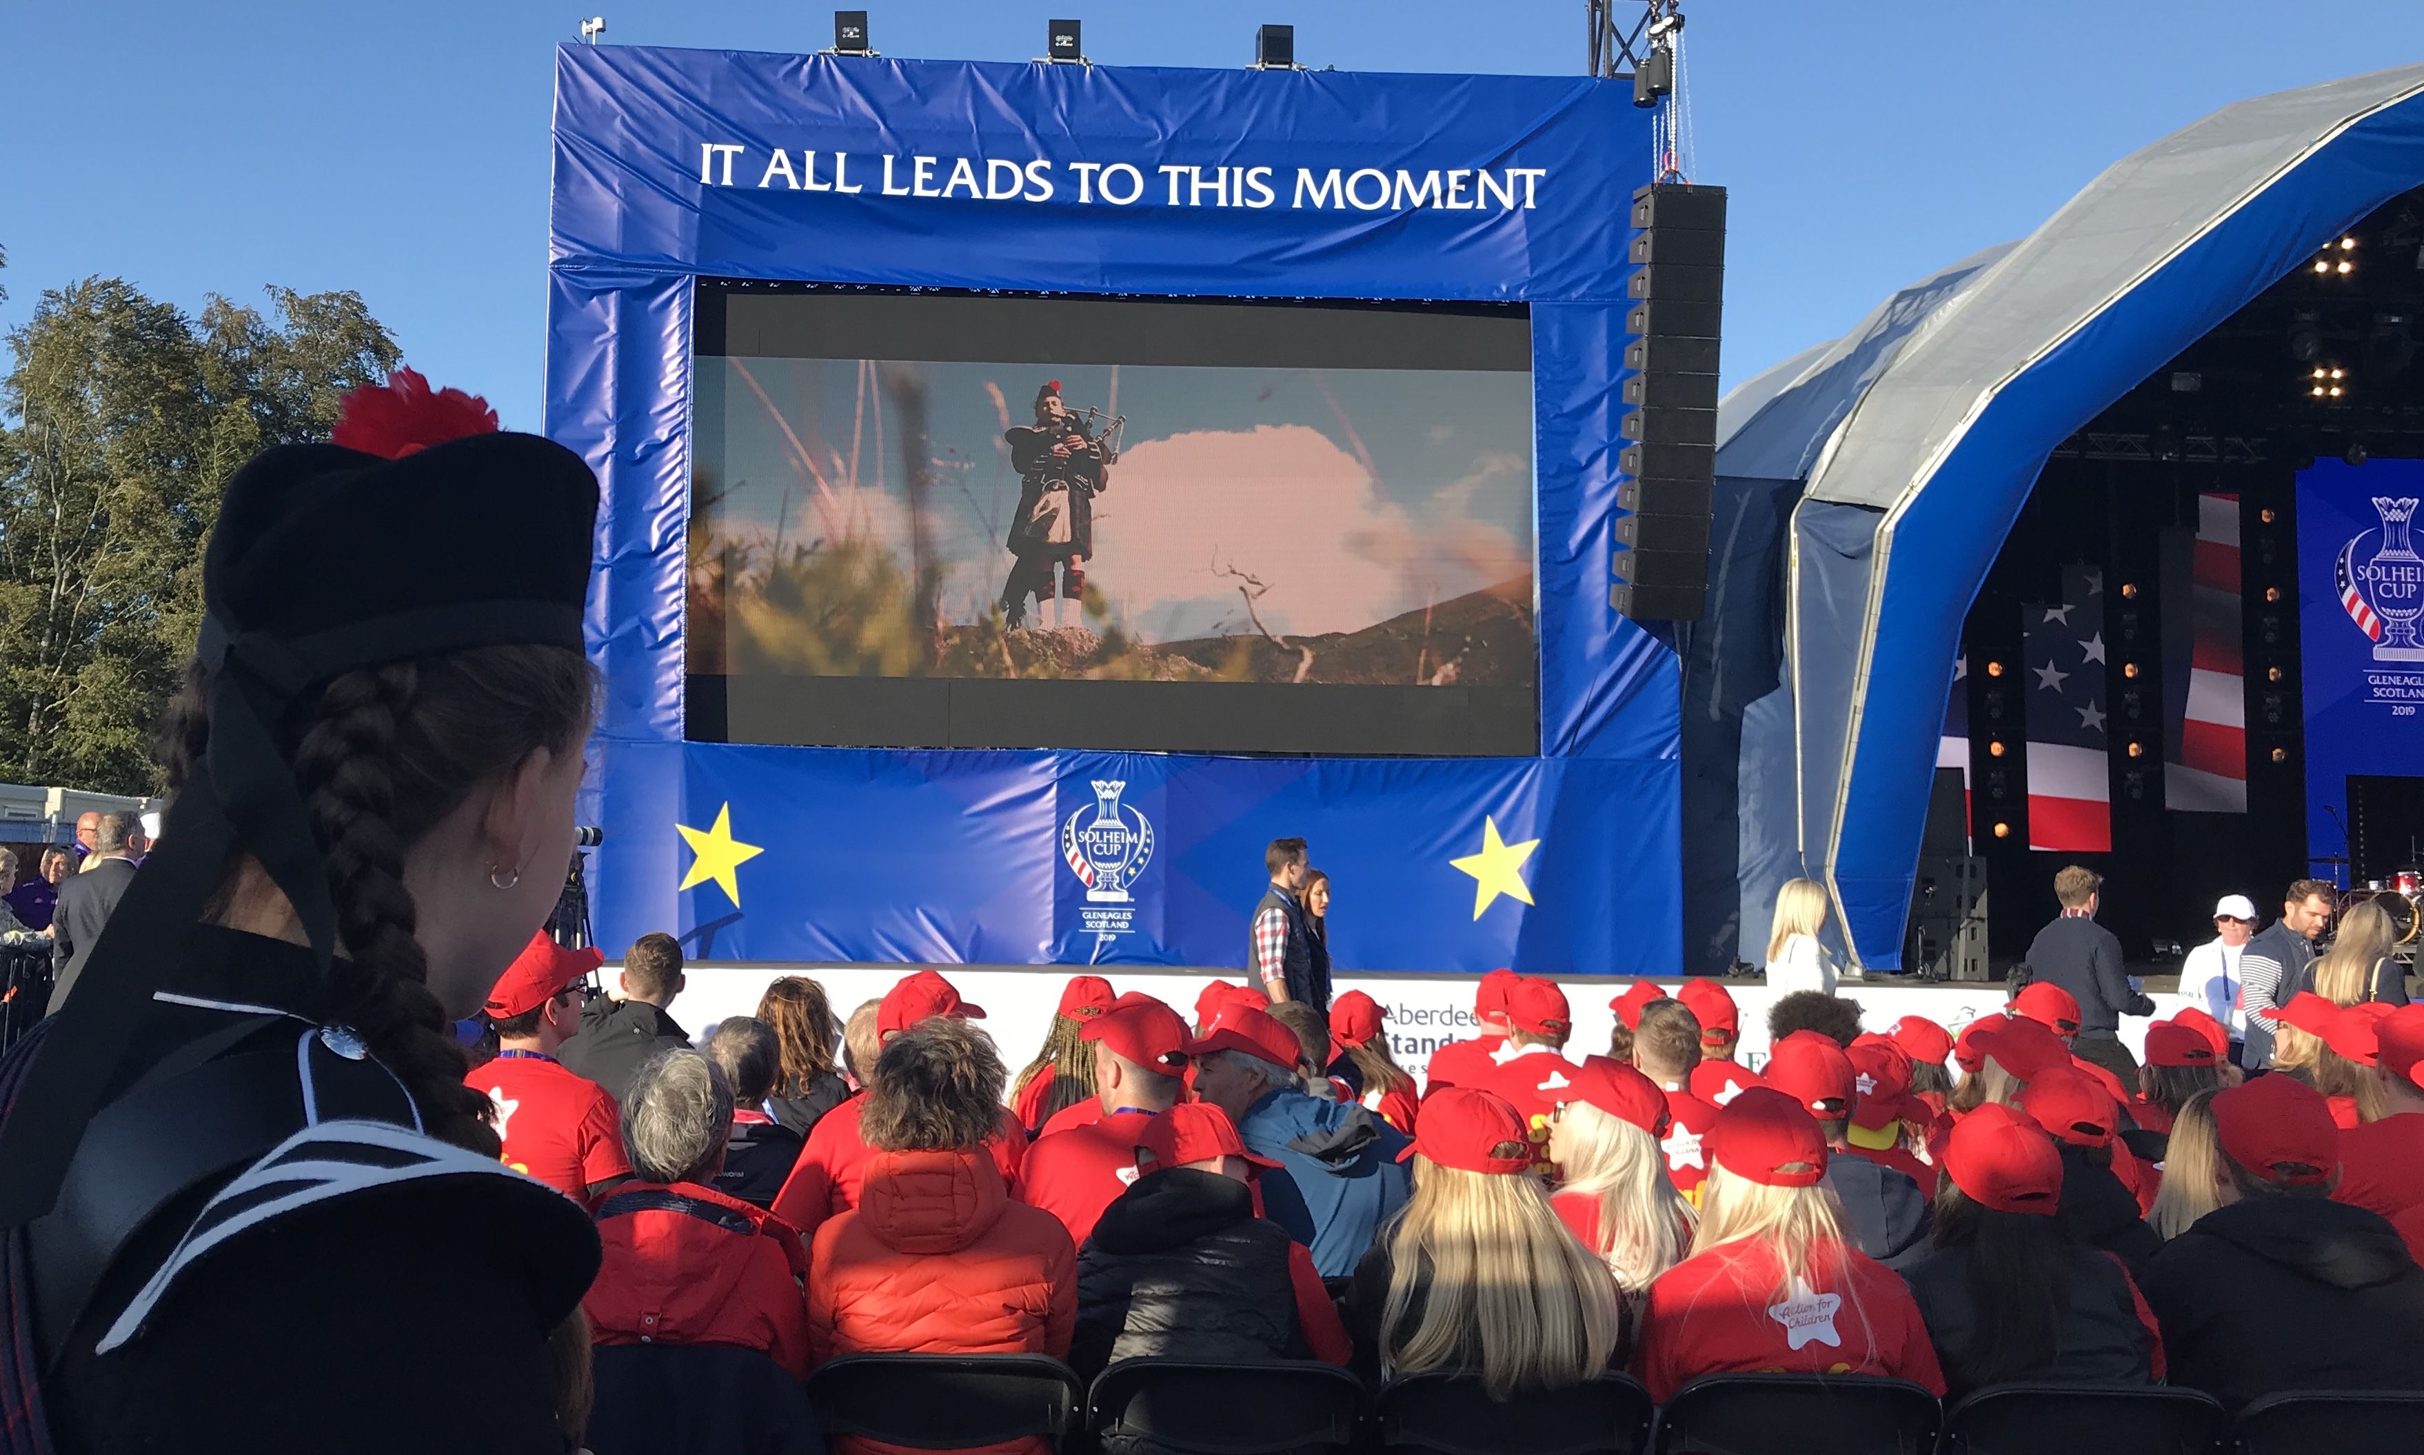
[[[2060,601],[2019,611],[2022,696],[2029,703],[2029,849],[2109,854],[2104,572],[2065,567]]]

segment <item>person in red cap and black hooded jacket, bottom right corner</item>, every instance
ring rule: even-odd
[[[2211,1106],[2223,1205],[2145,1273],[2172,1382],[2233,1411],[2283,1390],[2424,1390],[2424,1268],[2378,1212],[2332,1200],[2322,1094],[2259,1077]]]

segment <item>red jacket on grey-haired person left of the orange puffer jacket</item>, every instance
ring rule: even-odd
[[[698,1183],[623,1183],[599,1208],[599,1242],[582,1297],[596,1343],[756,1348],[807,1377],[807,1254],[771,1212]]]

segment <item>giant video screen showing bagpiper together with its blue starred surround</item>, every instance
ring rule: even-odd
[[[1607,609],[1648,114],[1578,78],[565,46],[608,946],[1665,975]]]

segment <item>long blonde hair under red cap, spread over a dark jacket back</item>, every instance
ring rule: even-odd
[[[1505,1402],[1607,1373],[1617,1285],[1573,1242],[1532,1176],[1459,1171],[1413,1154],[1413,1196],[1387,1232],[1382,1373],[1471,1370]],[[1401,1331],[1408,1307],[1423,1314]]]

